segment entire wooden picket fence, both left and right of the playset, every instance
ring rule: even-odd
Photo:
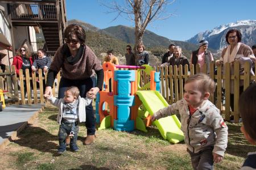
[[[250,82],[254,81],[256,78],[250,75],[250,63],[245,63],[243,68],[243,74],[240,71],[240,63],[235,62],[233,64],[225,64],[225,74],[222,74],[222,66],[215,67],[214,62],[210,63],[209,76],[216,82],[217,88],[214,96],[210,96],[210,101],[214,103],[218,109],[220,109],[222,114],[225,114],[225,119],[229,120],[230,115],[234,116],[234,122],[238,122],[238,100],[240,96],[240,80],[243,80],[243,90],[245,90]],[[231,74],[231,70],[234,73]],[[12,67],[12,70],[15,70]],[[165,97],[168,103],[175,103],[177,100],[183,97],[183,85],[185,80],[189,75],[194,74],[194,65],[191,65],[188,71],[188,66],[185,65],[184,73],[182,71],[182,66],[169,66],[169,67],[156,67],[156,71],[160,71],[160,92]],[[207,73],[206,68],[200,68],[200,65],[196,65],[197,73]],[[45,99],[43,97],[43,80],[46,79],[47,74],[43,76],[43,71],[39,69],[38,74],[32,73],[30,76],[28,69],[26,70],[26,75],[16,76],[15,71],[11,72],[8,68],[6,69],[5,75],[1,73],[0,70],[0,88],[6,90],[6,96],[9,98],[10,103],[15,104],[43,104]],[[23,75],[22,70],[19,70],[19,75]],[[36,76],[38,75],[38,76]],[[141,72],[141,86],[150,81],[149,75],[146,75],[143,71]],[[59,89],[60,73],[57,74],[57,86],[53,84],[53,95]],[[223,83],[225,80],[225,83]],[[24,82],[26,82],[27,94],[24,94]],[[230,84],[234,84],[234,111],[230,111]],[[18,88],[18,84],[20,89]],[[179,87],[178,87],[179,86]],[[225,87],[225,95],[222,94],[222,88]],[[179,91],[178,91],[179,89]],[[224,95],[224,96],[223,96]],[[225,97],[225,104],[222,102],[222,98]],[[18,101],[13,100],[18,98]],[[14,102],[11,102],[11,101]],[[8,101],[8,100],[7,100]]]

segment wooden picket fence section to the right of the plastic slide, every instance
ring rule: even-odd
[[[222,74],[222,67],[225,67],[225,74]],[[239,121],[238,100],[240,96],[240,81],[243,83],[243,90],[245,90],[250,83],[254,82],[256,76],[250,75],[250,63],[246,62],[244,68],[240,68],[240,63],[226,63],[224,66],[214,66],[214,62],[210,63],[209,76],[216,82],[216,92],[210,96],[210,101],[220,109],[221,113],[225,115],[225,120],[230,120],[230,116],[234,116],[234,122]],[[183,98],[184,82],[189,75],[194,74],[194,65],[191,65],[190,72],[188,65],[185,65],[184,73],[182,73],[182,66],[156,67],[156,71],[160,70],[161,86],[160,92],[166,98],[168,103],[175,103],[177,100]],[[173,70],[173,71],[172,71]],[[231,71],[233,70],[233,71]],[[241,71],[243,74],[241,74]],[[206,67],[196,65],[197,73],[207,73]],[[233,72],[233,74],[232,74]],[[147,80],[148,81],[148,77]],[[225,83],[224,83],[225,82]],[[234,111],[230,111],[230,85],[234,86]],[[178,87],[179,86],[179,87]],[[170,88],[169,88],[170,87]],[[222,92],[225,88],[225,94]],[[178,92],[179,89],[179,92]],[[175,94],[175,95],[174,95]],[[177,95],[176,95],[177,94]],[[174,97],[175,96],[175,97]],[[224,98],[225,97],[225,98]],[[224,102],[222,99],[225,99]],[[225,103],[225,104],[224,104]]]

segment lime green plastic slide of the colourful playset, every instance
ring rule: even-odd
[[[158,91],[137,91],[136,95],[150,115],[168,106],[167,101]],[[184,141],[184,134],[180,130],[180,121],[176,115],[160,118],[155,121],[155,125],[167,141],[171,143]]]

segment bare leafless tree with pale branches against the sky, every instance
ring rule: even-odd
[[[135,46],[142,42],[142,38],[148,23],[156,19],[167,19],[172,14],[166,12],[166,6],[175,0],[124,0],[122,4],[112,1],[109,12],[117,12],[118,15],[127,14],[135,24]],[[116,17],[116,18],[117,18]],[[116,19],[115,18],[115,19]],[[114,19],[114,20],[115,20]]]

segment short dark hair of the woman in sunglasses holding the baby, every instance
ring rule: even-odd
[[[84,28],[77,24],[70,24],[68,25],[68,27],[65,28],[64,38],[71,40],[72,34],[75,34],[77,36],[81,44],[85,44],[86,35]]]

